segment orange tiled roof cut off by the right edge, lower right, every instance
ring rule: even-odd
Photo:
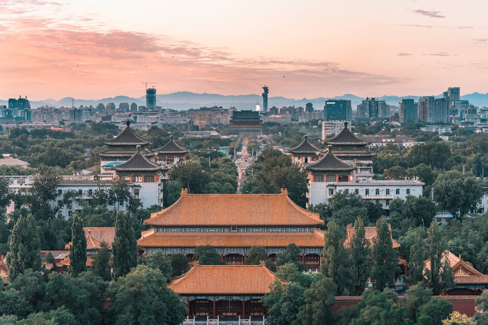
[[[488,284],[488,276],[478,271],[473,265],[461,259],[461,255],[456,256],[452,252],[445,250],[443,262],[449,261],[454,275],[454,282],[458,285]],[[427,269],[430,269],[430,259],[424,262]]]

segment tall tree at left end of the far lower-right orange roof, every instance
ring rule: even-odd
[[[438,295],[442,290],[450,287],[454,278],[452,269],[449,265],[446,254],[446,240],[443,238],[441,230],[434,221],[427,229],[427,259],[430,267],[425,269],[427,283],[434,295]]]

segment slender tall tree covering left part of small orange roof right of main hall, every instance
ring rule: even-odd
[[[369,278],[369,241],[366,239],[363,219],[358,217],[354,222],[354,235],[350,241],[348,252],[351,257],[349,266],[349,291],[353,296],[360,296],[366,287]]]

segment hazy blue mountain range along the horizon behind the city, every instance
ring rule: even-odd
[[[441,97],[442,95],[436,96]],[[385,100],[387,104],[390,105],[398,105],[402,99],[406,98],[413,98],[415,101],[420,96],[381,96],[375,97],[379,100]],[[28,98],[27,98],[28,99]],[[268,108],[272,106],[276,107],[283,107],[283,106],[295,106],[295,107],[305,107],[306,103],[312,103],[313,107],[316,110],[323,110],[325,100],[327,99],[348,99],[351,101],[352,109],[355,110],[356,106],[361,103],[361,100],[366,99],[364,97],[355,96],[352,94],[346,94],[344,96],[335,96],[335,97],[319,97],[319,98],[303,98],[303,99],[292,99],[292,98],[285,98],[285,97],[269,97],[268,98]],[[468,100],[469,103],[478,106],[488,107],[488,93],[487,94],[480,94],[480,93],[473,93],[461,96],[462,100]],[[55,99],[45,99],[41,101],[31,101],[31,108],[38,108],[41,106],[54,106],[60,108],[61,106],[64,107],[71,107],[73,99],[71,97],[65,97],[60,100]],[[211,107],[211,106],[222,106],[223,108],[228,107],[235,107],[238,110],[255,110],[256,103],[259,103],[262,106],[263,97],[259,95],[237,95],[237,96],[223,96],[218,94],[195,94],[190,92],[177,92],[172,94],[166,95],[157,95],[157,104],[158,106],[162,106],[163,108],[171,108],[175,110],[187,110],[189,108],[200,108],[200,107]],[[102,98],[96,100],[89,100],[89,99],[76,99],[74,100],[75,107],[83,106],[97,106],[99,103],[107,104],[107,103],[115,103],[116,107],[119,107],[120,103],[136,103],[137,105],[146,104],[146,97],[142,96],[139,98],[132,98],[127,96],[116,96],[116,97],[109,97],[109,98]],[[7,100],[0,100],[0,105],[8,105]]]

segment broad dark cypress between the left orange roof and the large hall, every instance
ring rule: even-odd
[[[115,217],[115,237],[112,242],[114,278],[118,279],[137,265],[137,242],[129,212],[118,212]]]

